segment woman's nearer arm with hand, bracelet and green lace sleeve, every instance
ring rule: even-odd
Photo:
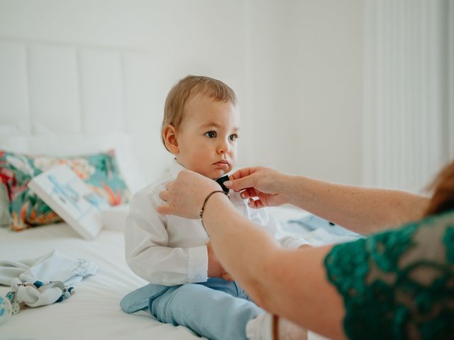
[[[218,190],[214,181],[182,171],[160,193],[167,204],[157,211],[197,218]],[[255,301],[306,329],[336,339],[370,331],[381,339],[421,329],[434,338],[453,334],[452,212],[355,242],[293,251],[279,249],[221,193],[206,201],[203,222],[219,261]]]

